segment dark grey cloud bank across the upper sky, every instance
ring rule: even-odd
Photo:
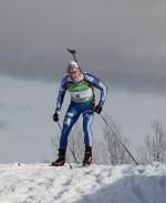
[[[0,73],[60,80],[79,50],[82,68],[114,87],[166,93],[164,1],[3,1]]]

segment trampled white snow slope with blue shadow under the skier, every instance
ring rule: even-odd
[[[0,203],[165,203],[166,165],[0,164]]]

